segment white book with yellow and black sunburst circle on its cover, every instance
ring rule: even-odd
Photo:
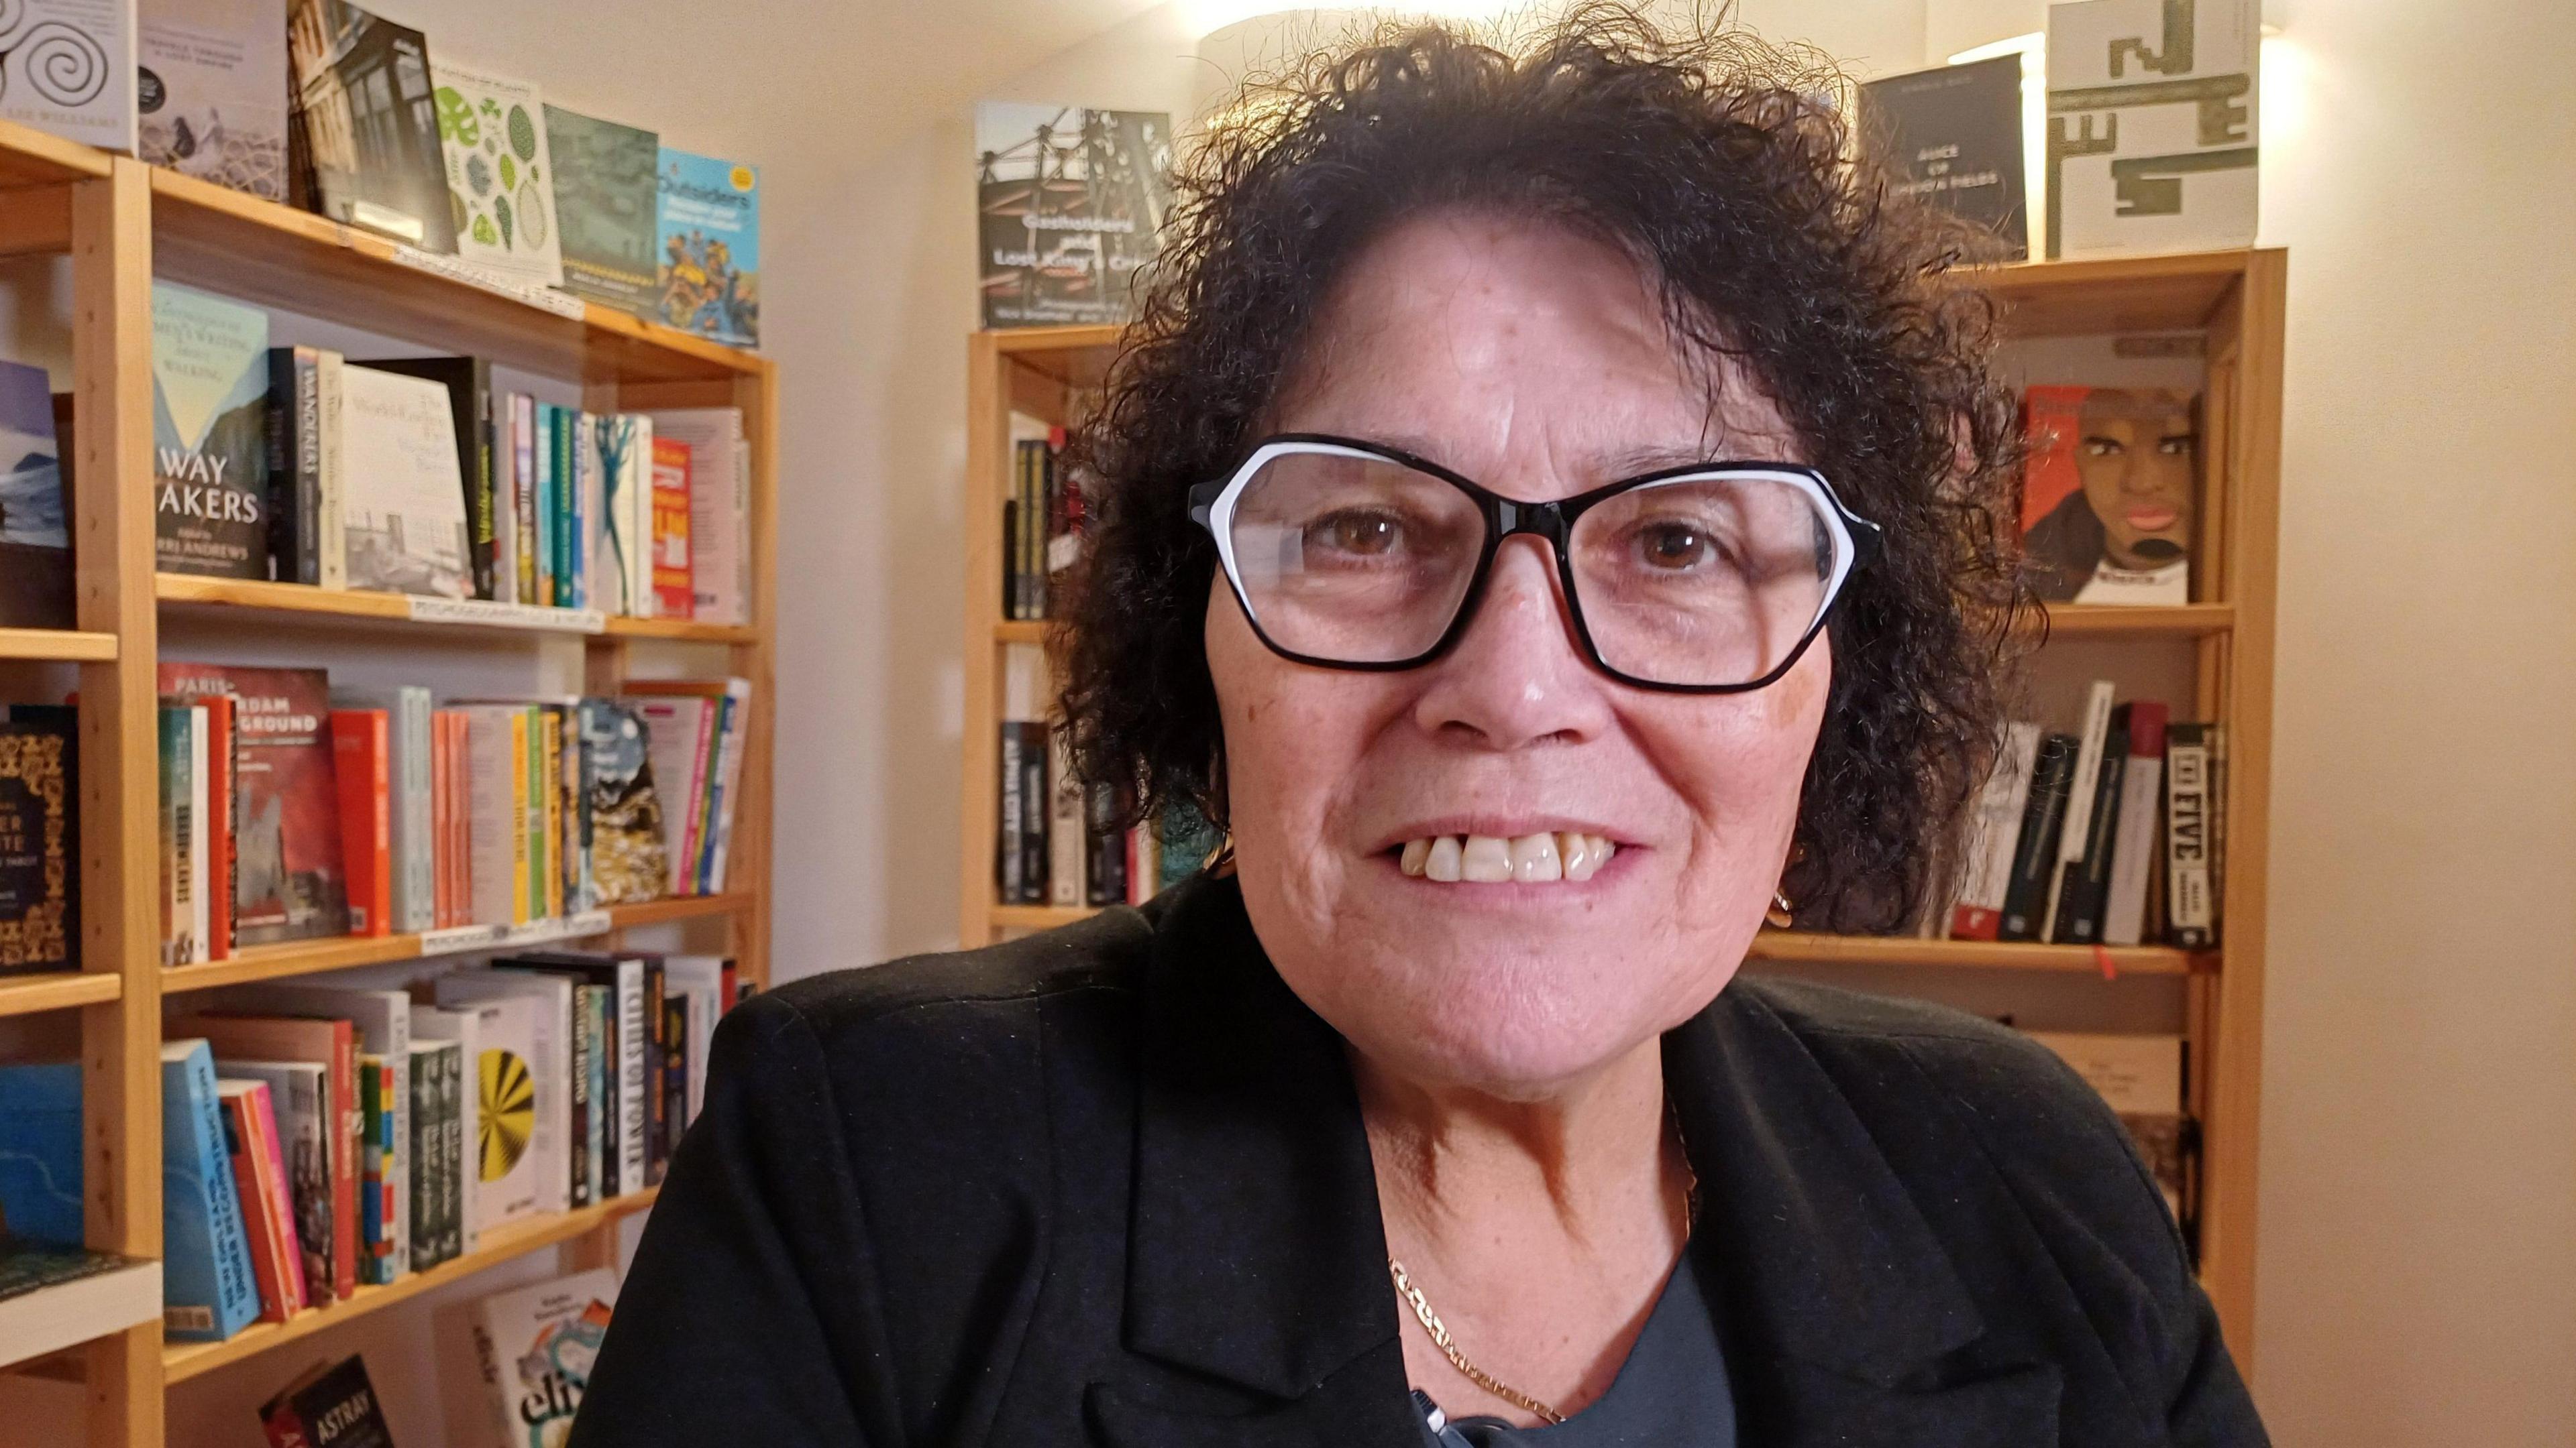
[[[474,1010],[479,1232],[572,1206],[572,982],[466,969],[438,976],[440,1010]]]

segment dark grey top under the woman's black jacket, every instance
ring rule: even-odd
[[[1736,1448],[1736,1399],[1726,1391],[1726,1353],[1700,1293],[1690,1252],[1664,1281],[1618,1378],[1592,1407],[1551,1427],[1510,1427],[1494,1417],[1443,1422],[1414,1391],[1430,1448]],[[1432,1427],[1443,1422],[1443,1427]]]

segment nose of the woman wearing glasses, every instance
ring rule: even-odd
[[[1414,719],[1492,750],[1579,742],[1610,721],[1607,680],[1584,662],[1546,541],[1512,536],[1458,644],[1427,670]]]

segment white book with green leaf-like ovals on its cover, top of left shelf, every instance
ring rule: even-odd
[[[554,157],[536,85],[438,62],[438,149],[456,255],[536,286],[564,283]]]

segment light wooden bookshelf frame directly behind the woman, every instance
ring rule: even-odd
[[[1749,956],[1780,969],[1893,966],[2012,971],[2022,979],[2161,976],[2182,992],[2192,1041],[2190,1103],[2202,1123],[2202,1281],[2239,1366],[2254,1360],[2254,1185],[2262,1082],[2264,850],[2272,776],[2272,575],[2280,513],[2280,250],[2025,263],[1976,273],[2007,340],[2200,332],[2205,340],[2205,487],[2192,603],[2061,605],[2035,636],[2089,649],[2190,660],[2182,719],[2228,727],[2226,938],[2218,951],[2092,948],[1765,930]],[[1072,423],[1118,348],[1113,327],[1033,327],[969,340],[966,433],[966,737],[958,830],[958,938],[969,946],[1090,915],[994,902],[997,721],[1012,647],[1046,647],[1048,624],[1002,618],[1002,500],[1010,415]],[[2125,654],[2123,654],[2125,657]],[[2045,652],[2043,652],[2045,660]],[[1911,979],[1911,976],[1909,976]],[[2032,987],[2038,989],[2038,987]],[[2066,984],[2050,989],[2063,992]]]

